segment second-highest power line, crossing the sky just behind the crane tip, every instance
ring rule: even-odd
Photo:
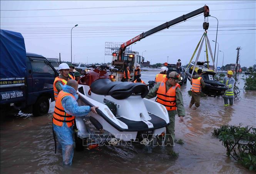
[[[254,8],[235,8],[228,10],[246,10],[246,9],[255,9]],[[227,9],[211,10],[211,11],[220,11]],[[64,17],[64,16],[92,16],[92,15],[125,15],[125,14],[143,14],[143,13],[174,13],[174,12],[191,12],[191,11],[155,11],[155,12],[135,12],[135,13],[102,13],[102,14],[86,14],[86,15],[56,15],[56,16],[0,16],[0,18],[38,18],[38,17]]]

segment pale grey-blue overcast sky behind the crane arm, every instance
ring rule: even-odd
[[[219,20],[218,66],[236,62],[249,67],[256,61],[256,1],[2,1],[1,29],[22,33],[27,52],[73,62],[110,62],[105,42],[126,42],[166,21],[208,5]],[[72,9],[67,9],[72,8]],[[80,8],[80,9],[77,9]],[[55,10],[47,10],[55,9]],[[16,10],[16,11],[4,11]],[[19,11],[17,11],[19,10]],[[189,62],[204,30],[204,16],[197,16],[142,39],[132,46],[146,61]],[[209,17],[208,37],[214,52],[217,20]],[[205,50],[205,46],[203,46]],[[216,49],[216,59],[218,44]],[[199,60],[204,60],[204,51]],[[212,61],[211,61],[212,62]],[[211,64],[211,63],[210,63]],[[216,64],[216,62],[215,62]]]

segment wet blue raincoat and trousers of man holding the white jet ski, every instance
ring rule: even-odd
[[[83,117],[90,112],[90,106],[78,105],[76,101],[78,99],[78,95],[73,87],[63,85],[62,90],[74,95],[75,97],[75,99],[71,96],[65,96],[62,98],[62,106],[65,112],[75,117]],[[73,126],[68,127],[67,123],[63,123],[62,126],[53,124],[53,128],[57,136],[58,148],[62,148],[63,163],[71,165],[74,155]]]

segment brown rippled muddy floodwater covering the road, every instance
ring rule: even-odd
[[[142,80],[154,80],[158,71],[142,72]],[[211,135],[212,128],[223,124],[256,127],[256,91],[243,90],[244,81],[239,76],[241,100],[232,107],[224,107],[222,97],[202,97],[197,110],[188,108],[191,97],[190,82],[181,86],[186,108],[184,122],[176,117],[176,139],[184,144],[170,147],[147,148],[131,146],[100,147],[74,153],[70,167],[62,165],[60,152],[54,153],[52,113],[42,117],[20,114],[1,115],[1,174],[9,173],[250,173],[235,160],[226,156],[221,142]],[[177,158],[168,155],[173,149]]]

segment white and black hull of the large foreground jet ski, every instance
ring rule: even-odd
[[[138,87],[135,90],[138,92]],[[124,99],[117,99],[119,97],[116,95],[115,98],[110,95],[99,95],[90,91],[88,85],[79,85],[78,91],[79,105],[99,106],[98,114],[90,114],[92,124],[96,128],[108,131],[115,138],[130,141],[136,140],[138,133],[141,132],[154,136],[166,133],[169,117],[166,108],[160,103],[142,98],[141,95],[131,95]],[[116,106],[115,115],[106,105],[109,102]]]

